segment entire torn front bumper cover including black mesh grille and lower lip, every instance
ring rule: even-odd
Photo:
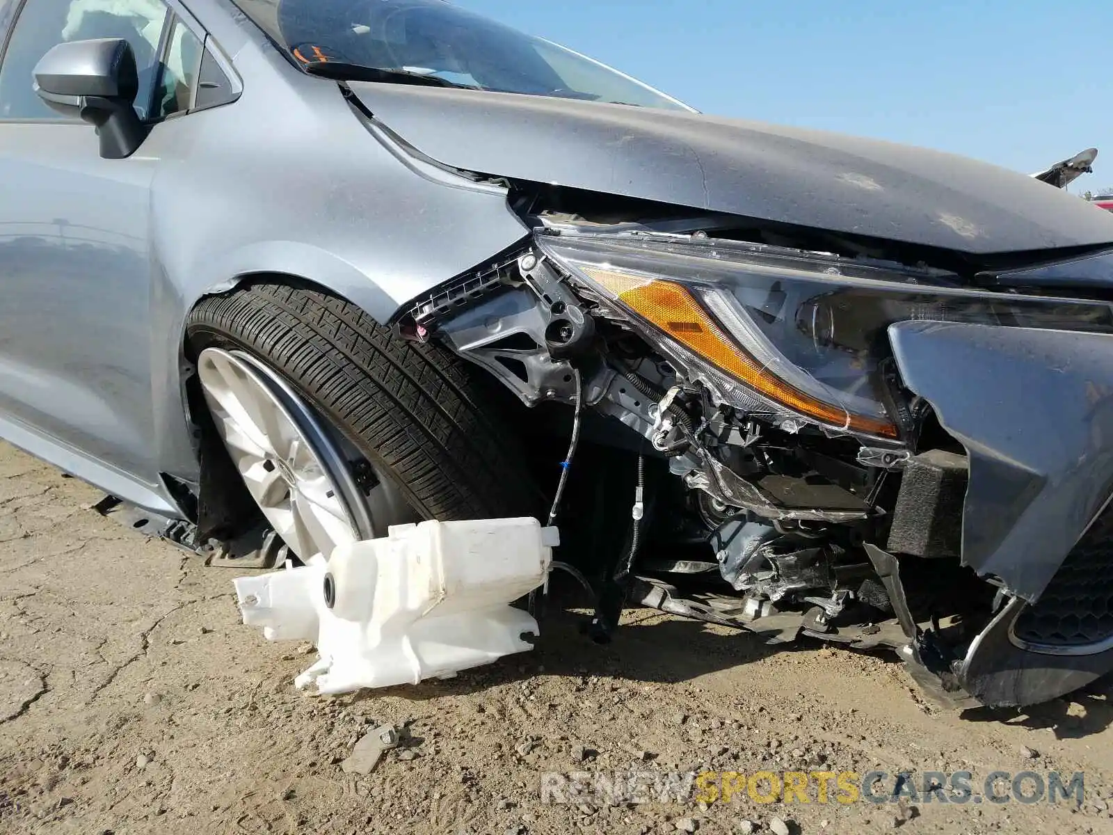
[[[1103,675],[1113,335],[903,322],[889,337],[905,384],[969,458],[963,564],[1008,601],[955,665],[958,684],[985,704],[1023,705]]]

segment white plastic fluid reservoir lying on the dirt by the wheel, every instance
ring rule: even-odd
[[[268,640],[317,645],[298,687],[417,684],[532,649],[538,623],[510,603],[544,582],[556,544],[535,519],[394,525],[327,562],[239,578],[236,595]]]

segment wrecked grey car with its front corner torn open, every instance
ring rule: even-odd
[[[892,647],[956,705],[1113,669],[1107,213],[441,0],[0,38],[0,435],[102,512],[240,566],[535,517],[599,640]]]

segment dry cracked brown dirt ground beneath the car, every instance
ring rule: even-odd
[[[309,647],[240,625],[235,572],[102,519],[98,498],[0,445],[3,833],[1113,832],[1107,680],[956,714],[888,657],[774,652],[649,611],[598,647],[582,616],[555,611],[534,652],[321,698],[292,685]],[[342,770],[384,723],[404,746],[370,775]],[[820,804],[812,789],[806,805],[746,792],[700,805],[697,788],[607,805],[541,790],[545,773],[797,769],[968,770],[975,792],[995,770],[1084,772],[1085,802]]]

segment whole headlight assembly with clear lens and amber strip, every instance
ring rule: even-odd
[[[942,271],[700,237],[565,234],[538,245],[688,379],[788,429],[900,440],[884,373],[894,322],[1113,331],[1105,303],[962,287]]]

